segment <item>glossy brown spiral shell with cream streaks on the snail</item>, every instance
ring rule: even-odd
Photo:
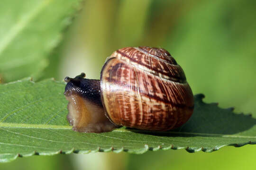
[[[193,94],[183,69],[162,48],[126,47],[101,70],[101,100],[116,125],[169,130],[193,113]]]

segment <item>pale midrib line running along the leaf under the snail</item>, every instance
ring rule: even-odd
[[[12,127],[12,128],[42,128],[42,129],[72,129],[72,126],[63,125],[37,125],[37,124],[21,124],[21,123],[0,123],[0,127]],[[133,129],[115,129],[113,132],[137,132],[137,133],[149,133],[149,131]],[[152,133],[152,132],[151,132]],[[191,132],[154,132],[158,134],[174,134],[174,135],[198,135],[198,136],[219,136],[219,137],[235,137],[235,138],[256,138],[256,136],[239,136],[239,135],[223,135],[223,134],[205,134],[205,133],[191,133]],[[152,135],[152,134],[148,134]]]

